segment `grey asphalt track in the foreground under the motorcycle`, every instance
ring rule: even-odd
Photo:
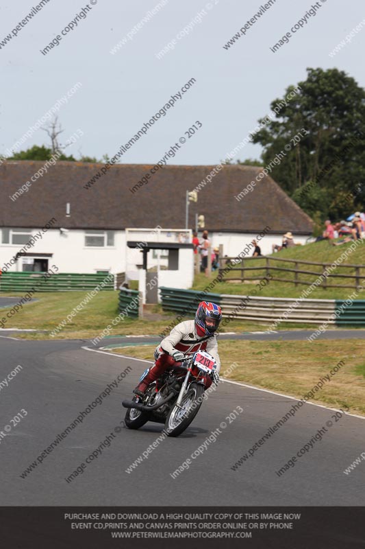
[[[359,332],[356,334],[358,337]],[[140,339],[147,342],[147,338]],[[18,412],[27,412],[0,439],[1,505],[364,506],[365,463],[348,476],[342,472],[365,450],[364,419],[344,415],[336,422],[332,410],[305,404],[233,471],[231,465],[288,412],[294,401],[228,382],[219,384],[183,435],[160,441],[149,458],[127,474],[125,469],[160,436],[163,427],[147,423],[132,431],[120,426],[125,412],[121,400],[130,397],[147,364],[104,351],[95,352],[95,347],[93,351],[83,347],[92,345],[84,340],[1,338],[0,381],[17,364],[23,370],[8,387],[1,386],[0,431],[10,425]],[[118,388],[86,415],[83,423],[38,467],[21,478],[58,433],[127,366],[132,371]],[[237,406],[243,412],[229,424],[226,418]],[[174,480],[170,473],[191,458],[222,421],[227,426],[221,428],[216,442],[207,445],[203,454],[192,460],[190,468]],[[327,421],[333,425],[322,441],[298,459],[295,467],[278,477],[275,471]],[[110,433],[114,434],[110,446],[103,449],[83,474],[66,482],[65,478]]]

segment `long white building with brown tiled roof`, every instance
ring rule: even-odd
[[[196,189],[213,169],[165,166],[147,180],[149,165],[114,165],[108,171],[104,168],[103,174],[99,164],[58,162],[34,178],[43,164],[10,161],[0,166],[3,270],[47,270],[55,264],[59,272],[137,272],[142,253],[134,250],[131,255],[127,241],[138,241],[138,228],[150,228],[144,229],[144,241],[181,244],[186,191]],[[259,245],[264,255],[271,253],[273,243],[281,243],[287,231],[293,233],[294,242],[305,243],[312,220],[269,176],[247,191],[261,172],[260,167],[223,167],[198,192],[197,203],[190,202],[190,229],[196,214],[204,215],[212,246],[223,244],[224,255],[230,257],[260,238],[262,231],[266,234]],[[192,250],[183,248],[181,277],[166,272],[160,285],[191,285]],[[148,268],[166,268],[164,255],[151,250]],[[183,264],[188,265],[185,270]]]

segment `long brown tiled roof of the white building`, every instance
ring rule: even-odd
[[[55,217],[54,226],[66,229],[157,225],[181,229],[185,226],[186,190],[192,191],[214,168],[167,165],[132,193],[129,189],[151,165],[114,165],[85,189],[101,165],[60,161],[13,202],[9,197],[43,165],[42,161],[5,161],[0,166],[0,226],[40,227]],[[198,202],[190,202],[190,227],[197,212],[205,215],[205,228],[211,231],[257,233],[270,226],[275,233],[312,233],[312,220],[269,176],[242,200],[236,200],[261,171],[255,166],[225,165],[199,191]],[[66,217],[67,202],[70,217]]]

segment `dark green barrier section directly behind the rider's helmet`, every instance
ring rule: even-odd
[[[204,294],[203,291],[179,290],[178,288],[159,288],[162,300],[162,309],[166,311],[184,312],[184,314],[195,314],[201,301],[212,301],[217,305],[221,304],[220,294]]]

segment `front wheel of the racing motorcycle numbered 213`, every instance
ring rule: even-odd
[[[181,407],[173,406],[166,417],[167,436],[179,436],[188,428],[203,402],[204,387],[192,383],[181,401]]]

